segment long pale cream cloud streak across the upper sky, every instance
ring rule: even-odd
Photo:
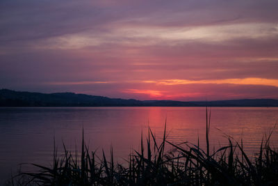
[[[240,23],[210,26],[130,26],[112,25],[109,31],[79,31],[53,36],[42,42],[28,44],[35,49],[83,49],[122,45],[148,47],[156,45],[183,45],[188,42],[229,45],[234,40],[268,40],[278,37],[276,23]],[[163,44],[164,43],[164,44]],[[214,45],[215,45],[214,44]]]

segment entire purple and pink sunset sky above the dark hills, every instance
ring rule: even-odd
[[[278,1],[0,1],[0,88],[278,99]]]

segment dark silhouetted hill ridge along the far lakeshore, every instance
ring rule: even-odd
[[[278,100],[221,100],[179,102],[172,100],[124,100],[76,93],[30,93],[0,90],[0,107],[278,107]]]

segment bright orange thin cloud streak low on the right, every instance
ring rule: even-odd
[[[145,83],[155,83],[162,85],[180,84],[245,84],[245,85],[264,85],[278,87],[278,79],[264,78],[244,78],[244,79],[208,79],[208,80],[188,80],[188,79],[161,79],[157,81],[144,81]]]

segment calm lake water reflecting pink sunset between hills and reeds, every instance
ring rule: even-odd
[[[8,178],[20,163],[51,163],[54,136],[62,150],[80,147],[82,127],[90,150],[111,145],[118,161],[131,149],[138,149],[141,131],[148,125],[160,138],[165,119],[169,141],[196,143],[199,135],[205,144],[206,109],[204,107],[89,107],[89,108],[0,108],[0,180]],[[215,148],[227,144],[225,134],[239,140],[243,137],[249,154],[261,143],[278,121],[278,108],[211,108],[211,143]],[[277,128],[272,144],[278,146]],[[29,166],[22,166],[29,170]],[[0,183],[1,184],[1,183]]]

